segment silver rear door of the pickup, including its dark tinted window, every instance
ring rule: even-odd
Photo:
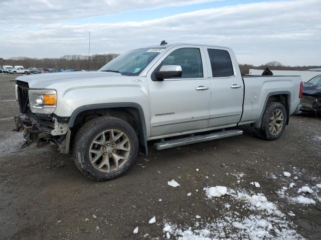
[[[204,47],[204,51],[211,82],[209,127],[234,126],[241,118],[244,90],[238,63],[229,48]]]

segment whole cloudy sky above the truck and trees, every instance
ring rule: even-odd
[[[321,65],[320,0],[0,0],[0,57],[229,46],[239,63]]]

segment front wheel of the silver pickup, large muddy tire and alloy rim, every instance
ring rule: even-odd
[[[132,126],[119,118],[101,116],[78,130],[72,156],[83,174],[105,181],[124,174],[137,154],[138,138]]]

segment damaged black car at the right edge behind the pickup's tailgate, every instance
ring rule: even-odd
[[[321,74],[303,84],[301,111],[315,112],[321,117]]]

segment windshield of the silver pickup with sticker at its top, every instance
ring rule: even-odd
[[[101,67],[100,71],[115,71],[122,75],[137,76],[165,47],[131,50]]]

